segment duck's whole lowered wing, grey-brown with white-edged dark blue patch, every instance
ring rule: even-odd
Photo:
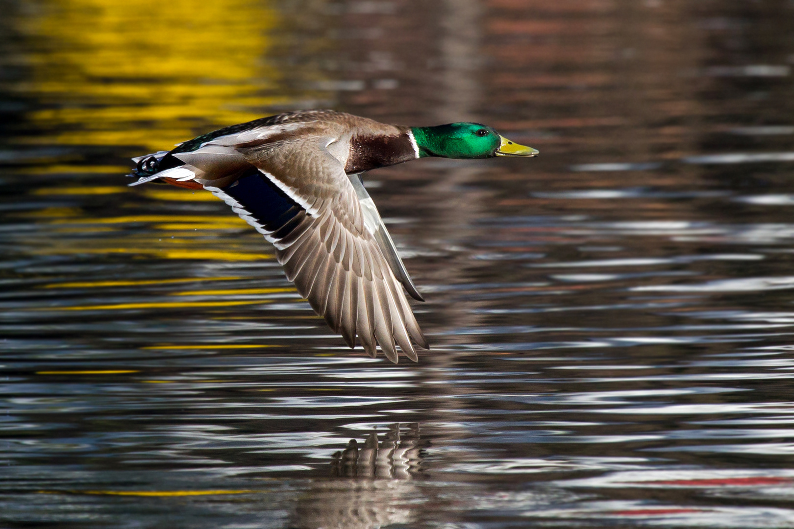
[[[399,279],[405,284],[407,278],[412,295],[418,292],[374,204],[367,206],[373,216],[362,208],[344,167],[326,150],[331,139],[252,146],[218,140],[176,156],[201,175],[206,190],[273,243],[287,278],[350,347],[358,335],[373,357],[380,344],[387,358],[397,362],[396,344],[417,361],[411,340],[422,348],[428,345]],[[223,176],[212,178],[215,174]]]

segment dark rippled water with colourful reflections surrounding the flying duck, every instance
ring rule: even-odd
[[[2,527],[794,526],[791,2],[0,6]],[[308,107],[542,152],[369,175],[418,364],[125,186]]]

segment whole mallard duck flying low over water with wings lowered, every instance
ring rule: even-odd
[[[359,336],[397,362],[428,349],[403,287],[424,301],[399,258],[364,171],[426,156],[534,156],[491,127],[384,125],[331,110],[263,117],[198,136],[171,151],[133,158],[137,186],[160,180],[204,189],[264,235],[287,279],[349,347]],[[402,286],[401,286],[402,285]],[[412,343],[413,341],[413,343]]]

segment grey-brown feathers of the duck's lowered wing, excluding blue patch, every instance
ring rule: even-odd
[[[399,346],[416,362],[416,346],[426,349],[428,344],[403,293],[403,274],[391,263],[402,262],[376,209],[375,233],[368,229],[372,219],[365,216],[372,213],[364,211],[358,190],[341,163],[326,151],[327,143],[327,138],[321,138],[295,141],[276,150],[241,149],[249,163],[310,210],[299,222],[293,220],[290,230],[279,230],[277,239],[272,234],[276,256],[298,292],[350,347],[358,335],[368,355],[376,355],[376,345],[380,345],[386,357],[397,362]],[[301,178],[303,174],[311,178]],[[370,207],[374,209],[374,204]],[[379,240],[381,231],[389,247]]]

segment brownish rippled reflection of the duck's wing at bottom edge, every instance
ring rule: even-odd
[[[418,424],[391,424],[383,441],[373,431],[363,446],[351,439],[345,450],[333,454],[331,479],[315,481],[299,500],[290,527],[364,529],[410,523],[411,507],[421,500],[414,478],[426,444]]]

